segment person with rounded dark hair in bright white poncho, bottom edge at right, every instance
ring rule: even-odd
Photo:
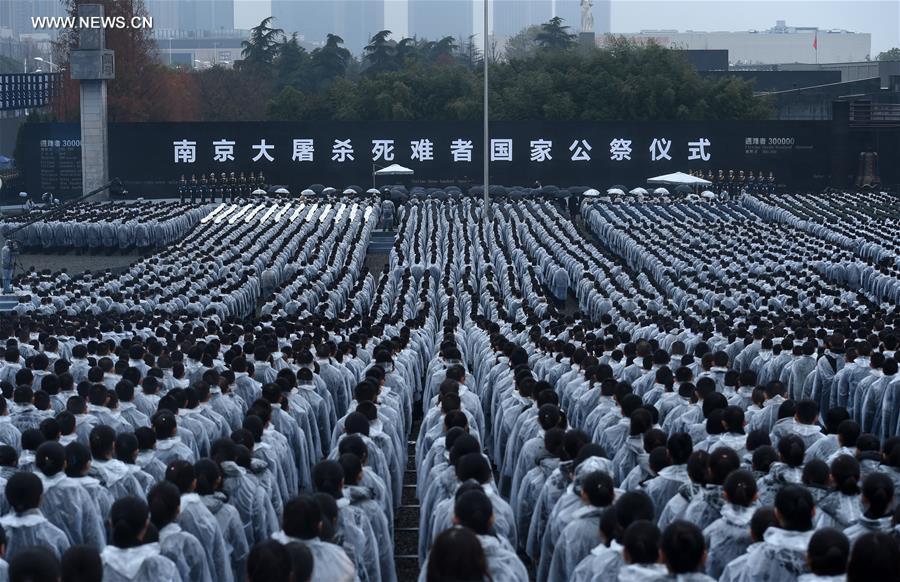
[[[763,545],[747,562],[748,580],[795,580],[808,571],[806,550],[816,506],[802,485],[785,485],[775,495],[779,527],[766,530]]]

